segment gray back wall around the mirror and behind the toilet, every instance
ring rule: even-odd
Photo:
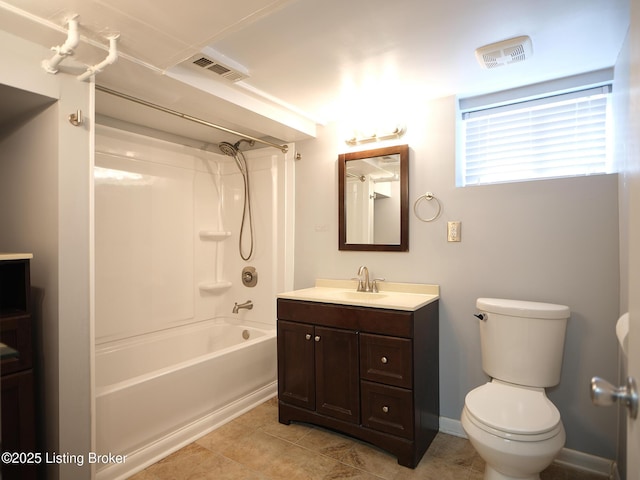
[[[352,278],[361,264],[390,281],[439,284],[441,415],[456,421],[466,393],[487,381],[475,299],[568,305],[562,379],[548,395],[562,415],[567,448],[614,458],[615,410],[592,406],[588,385],[593,375],[614,379],[617,372],[617,176],[456,188],[455,105],[453,97],[414,104],[403,119],[410,206],[426,191],[443,206],[431,223],[411,212],[407,253],[338,251],[337,157],[348,147],[335,124],[297,145],[295,287]],[[461,243],[446,241],[450,220],[462,222]]]

